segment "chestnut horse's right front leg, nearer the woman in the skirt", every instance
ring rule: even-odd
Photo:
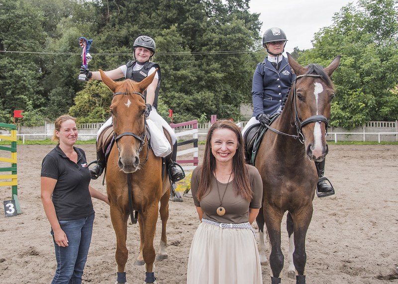
[[[158,220],[159,201],[149,205],[142,214],[144,243],[142,247],[142,256],[145,262],[145,283],[154,283],[154,261],[155,248],[153,247],[153,240],[156,231],[156,222]]]

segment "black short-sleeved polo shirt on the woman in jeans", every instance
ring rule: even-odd
[[[86,154],[80,148],[73,148],[78,154],[77,164],[65,155],[59,144],[44,157],[41,164],[41,177],[57,180],[52,201],[60,221],[75,220],[94,213]]]

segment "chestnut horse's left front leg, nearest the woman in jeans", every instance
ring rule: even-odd
[[[116,234],[116,253],[115,260],[117,263],[117,282],[120,284],[126,283],[126,273],[124,268],[127,263],[128,250],[126,247],[127,239],[127,217],[121,213],[116,206],[110,205],[110,219],[112,221],[113,229]]]

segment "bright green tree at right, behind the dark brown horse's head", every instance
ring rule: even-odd
[[[336,98],[331,125],[352,128],[370,120],[398,119],[398,1],[359,0],[348,4],[330,27],[301,53],[301,63],[326,66],[342,55],[333,74]]]

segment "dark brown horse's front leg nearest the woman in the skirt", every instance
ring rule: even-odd
[[[272,284],[281,283],[280,275],[284,262],[284,256],[281,250],[282,217],[283,214],[281,214],[280,210],[278,211],[270,205],[264,207],[264,219],[271,242],[270,267]]]

